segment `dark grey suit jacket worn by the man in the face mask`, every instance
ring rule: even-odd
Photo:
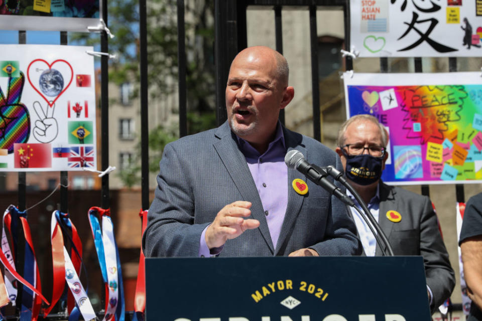
[[[380,214],[378,222],[395,255],[421,255],[425,265],[427,285],[432,290],[432,311],[452,293],[455,276],[448,253],[438,230],[437,216],[432,202],[399,187],[380,182]],[[387,212],[395,210],[402,220],[394,223]],[[351,214],[351,213],[350,213]],[[382,255],[377,243],[375,255]]]

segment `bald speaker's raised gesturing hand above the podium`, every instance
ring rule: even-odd
[[[251,203],[236,201],[224,206],[206,230],[206,245],[209,249],[224,245],[226,240],[243,234],[248,229],[260,226],[260,221],[247,219],[251,215]]]

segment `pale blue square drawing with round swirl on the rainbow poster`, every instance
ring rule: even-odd
[[[421,176],[422,153],[419,148],[407,146],[395,153],[395,177],[397,179],[418,178]]]

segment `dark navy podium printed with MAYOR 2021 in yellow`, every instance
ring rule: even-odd
[[[421,256],[146,258],[146,320],[430,321]]]

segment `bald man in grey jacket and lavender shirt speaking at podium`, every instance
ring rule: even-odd
[[[288,63],[250,47],[231,63],[227,121],[164,148],[143,235],[147,257],[317,256],[361,251],[347,209],[303,174],[287,151],[336,166],[338,155],[285,128],[280,110],[294,96]]]

